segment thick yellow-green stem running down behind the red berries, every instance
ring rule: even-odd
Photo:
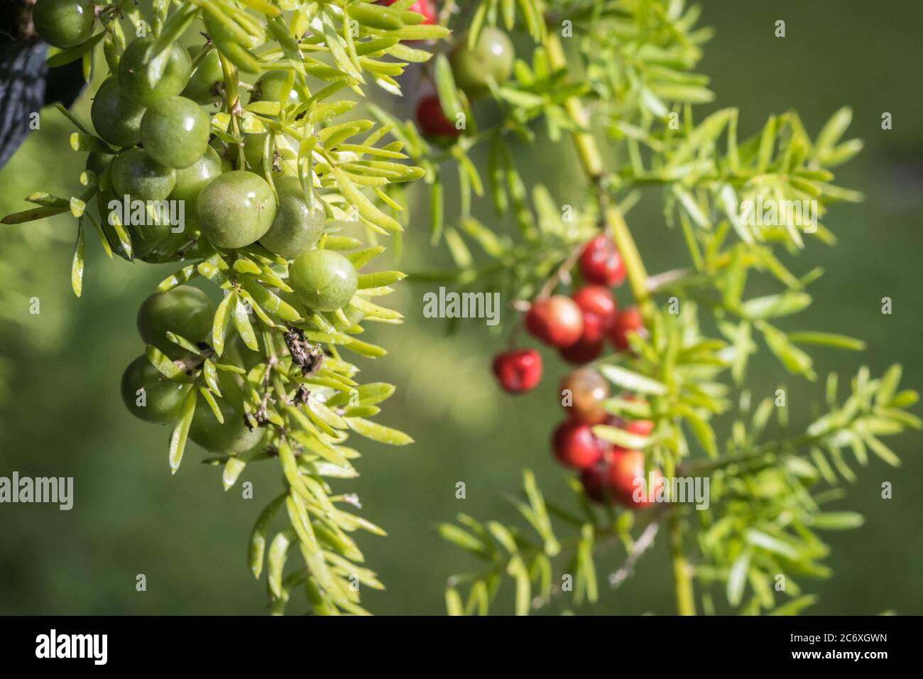
[[[561,45],[554,27],[549,27],[548,29],[545,50],[548,54],[548,65],[553,70],[567,68],[568,62],[564,54],[564,47]],[[587,115],[586,109],[584,109],[583,103],[581,103],[578,96],[569,97],[564,103],[564,107],[581,127],[581,130],[586,130],[571,132],[570,136],[577,149],[577,155],[580,158],[583,171],[598,191],[600,207],[603,209],[605,219],[605,228],[612,234],[618,252],[622,256],[622,261],[625,262],[631,293],[641,309],[641,316],[644,318],[645,323],[648,323],[653,318],[653,301],[647,289],[647,272],[644,270],[641,254],[638,252],[638,247],[635,245],[634,238],[631,236],[629,226],[625,223],[622,212],[617,205],[608,202],[605,198],[605,192],[601,186],[605,177],[605,167],[596,139],[593,138],[589,131],[590,116]],[[692,593],[692,579],[689,574],[689,564],[683,553],[682,536],[679,533],[679,524],[675,515],[671,516],[669,522],[669,534],[673,581],[677,596],[677,612],[680,615],[694,615],[695,600]]]

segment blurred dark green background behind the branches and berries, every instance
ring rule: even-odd
[[[776,19],[786,22],[784,39],[773,37]],[[742,134],[790,108],[816,133],[837,108],[853,107],[849,136],[864,139],[866,150],[839,168],[837,179],[864,191],[867,200],[830,212],[826,225],[839,237],[838,246],[812,243],[789,262],[797,273],[821,265],[826,275],[810,288],[814,305],[783,327],[847,333],[869,343],[862,355],[814,352],[821,375],[838,370],[846,378],[861,362],[879,374],[899,361],[905,386],[917,389],[923,368],[923,130],[913,121],[923,110],[921,21],[923,6],[916,3],[885,9],[863,0],[710,2],[701,23],[717,33],[699,67],[713,78],[717,95],[700,115],[737,105]],[[87,119],[88,109],[84,96],[78,115]],[[882,112],[892,113],[892,130],[881,129]],[[0,212],[22,209],[21,198],[33,190],[74,192],[82,155],[67,150],[69,132],[56,113],[42,115],[41,132],[0,170]],[[544,181],[561,203],[580,201],[569,143],[521,149],[518,159],[527,181]],[[428,246],[425,198],[417,195],[417,219],[401,263],[405,271],[445,260],[444,252]],[[682,239],[665,227],[656,193],[631,212],[629,224],[649,271],[684,263]],[[218,469],[197,464],[202,454],[196,449],[171,478],[168,430],[130,418],[119,399],[122,370],[142,348],[135,330],[138,304],[175,267],[106,261],[88,236],[78,300],[69,289],[73,222],[4,229],[0,476],[13,470],[72,476],[76,488],[70,512],[0,505],[0,613],[264,612],[265,583],[256,583],[246,568],[246,540],[278,488],[278,470],[266,464],[247,468],[254,501],[242,499],[239,487],[222,491]],[[13,278],[24,282],[11,285]],[[337,485],[358,492],[364,515],[390,533],[360,537],[368,564],[388,586],[366,591],[364,604],[378,613],[441,613],[446,576],[474,564],[438,539],[434,522],[457,512],[512,519],[502,496],[518,489],[522,467],[534,469],[549,496],[568,502],[566,477],[547,445],[560,418],[555,386],[564,369],[547,356],[543,388],[515,399],[499,394],[489,364],[500,338],[485,333],[481,321],[462,322],[461,332],[447,337],[444,321],[422,317],[426,289],[402,287],[401,297],[394,297],[407,324],[372,328],[373,339],[389,346],[391,355],[360,365],[366,381],[398,385],[380,421],[410,432],[416,444],[390,449],[363,441],[362,477]],[[32,296],[41,299],[39,315],[28,314]],[[881,315],[881,297],[892,297],[893,315]],[[10,316],[24,327],[7,324]],[[809,422],[810,403],[821,398],[822,386],[785,374],[763,350],[751,364],[749,386],[755,394],[770,394],[780,382],[789,389],[793,425]],[[827,563],[835,575],[801,583],[821,595],[809,612],[923,613],[923,495],[915,485],[923,476],[920,443],[917,432],[890,440],[903,467],[872,459],[836,504],[862,512],[867,521],[857,530],[827,534],[833,547]],[[888,501],[881,500],[885,480],[893,483]],[[465,500],[455,499],[458,481],[466,484]],[[665,545],[658,542],[627,585],[612,592],[604,581],[603,601],[593,612],[674,611]],[[600,564],[614,569],[622,559],[616,552]],[[136,591],[138,574],[147,576],[146,592]],[[290,610],[303,608],[295,600]]]

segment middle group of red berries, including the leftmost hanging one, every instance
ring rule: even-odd
[[[533,302],[525,316],[526,330],[561,358],[581,365],[599,358],[606,337],[619,351],[629,348],[628,334],[643,333],[637,307],[618,309],[609,288],[625,281],[625,264],[606,236],[583,246],[580,270],[586,285],[572,296],[552,295]],[[510,394],[533,389],[542,379],[542,358],[534,349],[497,354],[494,373]]]

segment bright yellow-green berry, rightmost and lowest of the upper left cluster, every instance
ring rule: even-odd
[[[335,311],[355,295],[358,274],[339,252],[308,250],[289,267],[289,285],[312,309]]]

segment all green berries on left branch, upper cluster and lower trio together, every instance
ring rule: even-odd
[[[33,20],[46,42],[73,47],[90,38],[95,7],[90,0],[38,0]],[[288,284],[300,302],[318,311],[345,307],[358,287],[358,274],[339,252],[318,249],[327,218],[323,200],[307,194],[297,172],[285,164],[271,168],[275,190],[270,188],[264,178],[265,133],[245,135],[243,154],[211,134],[210,112],[224,98],[219,53],[174,43],[153,55],[152,44],[151,37],[127,44],[117,70],[102,82],[90,107],[96,134],[112,151],[90,152],[86,167],[98,179],[97,207],[113,249],[124,253],[110,221],[113,200],[182,201],[186,217],[179,230],[174,228],[177,224],[157,220],[127,224],[134,257],[182,259],[198,238],[219,249],[258,243],[291,262]],[[287,76],[282,70],[264,72],[250,92],[250,102],[279,102]],[[302,103],[295,88],[290,89],[288,103]],[[205,293],[179,285],[144,301],[138,311],[138,332],[145,344],[179,361],[175,365],[185,366],[183,360],[196,356],[171,342],[167,333],[208,352],[214,313]],[[224,347],[224,356],[228,354],[245,367],[261,358],[233,331]],[[196,368],[189,365],[188,371]],[[220,371],[219,380],[222,394],[243,394],[241,376]],[[144,355],[128,365],[122,378],[126,406],[150,422],[174,422],[192,388],[191,380],[167,379]],[[232,403],[233,398],[219,399],[220,422],[200,402],[189,437],[209,450],[232,454],[260,443],[265,430],[252,427]]]

